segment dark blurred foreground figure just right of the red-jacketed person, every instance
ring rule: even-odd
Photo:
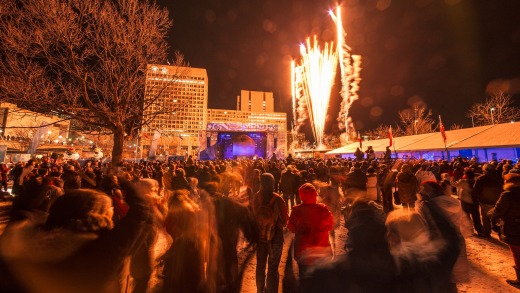
[[[374,202],[357,199],[347,222],[346,253],[301,276],[301,292],[398,292],[397,269],[388,246],[383,212]]]

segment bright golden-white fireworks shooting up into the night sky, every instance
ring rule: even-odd
[[[330,16],[336,24],[338,42],[336,50],[333,49],[332,43],[330,45],[325,43],[325,47],[321,51],[316,37],[314,37],[313,44],[310,39],[307,39],[307,46],[301,45],[300,47],[301,64],[296,66],[294,61],[291,63],[293,115],[298,114],[295,124],[297,121],[298,129],[308,116],[318,146],[323,143],[325,119],[338,61],[342,98],[338,122],[340,129],[345,129],[347,137],[352,131],[355,133],[348,114],[352,103],[359,98],[357,92],[361,81],[359,74],[361,56],[352,55],[350,47],[345,42],[346,33],[341,21],[341,8],[337,7],[336,14],[331,11]],[[297,111],[296,100],[298,100]]]

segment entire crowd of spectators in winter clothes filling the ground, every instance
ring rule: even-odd
[[[510,246],[508,283],[520,287],[520,163],[366,154],[3,164],[15,196],[1,291],[150,292],[156,274],[155,292],[240,292],[243,239],[256,248],[257,292],[278,292],[289,232],[301,292],[456,292],[464,237],[491,233]],[[347,253],[334,255],[341,223]],[[160,231],[172,244],[156,257]]]

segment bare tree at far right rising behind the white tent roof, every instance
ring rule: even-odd
[[[520,108],[513,106],[512,96],[496,93],[482,103],[476,103],[466,112],[472,126],[507,123],[520,119]]]

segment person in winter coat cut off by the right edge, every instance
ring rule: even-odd
[[[516,280],[507,280],[507,283],[520,288],[520,174],[509,173],[504,179],[504,192],[489,213],[492,219],[503,221],[500,238],[513,253]]]

